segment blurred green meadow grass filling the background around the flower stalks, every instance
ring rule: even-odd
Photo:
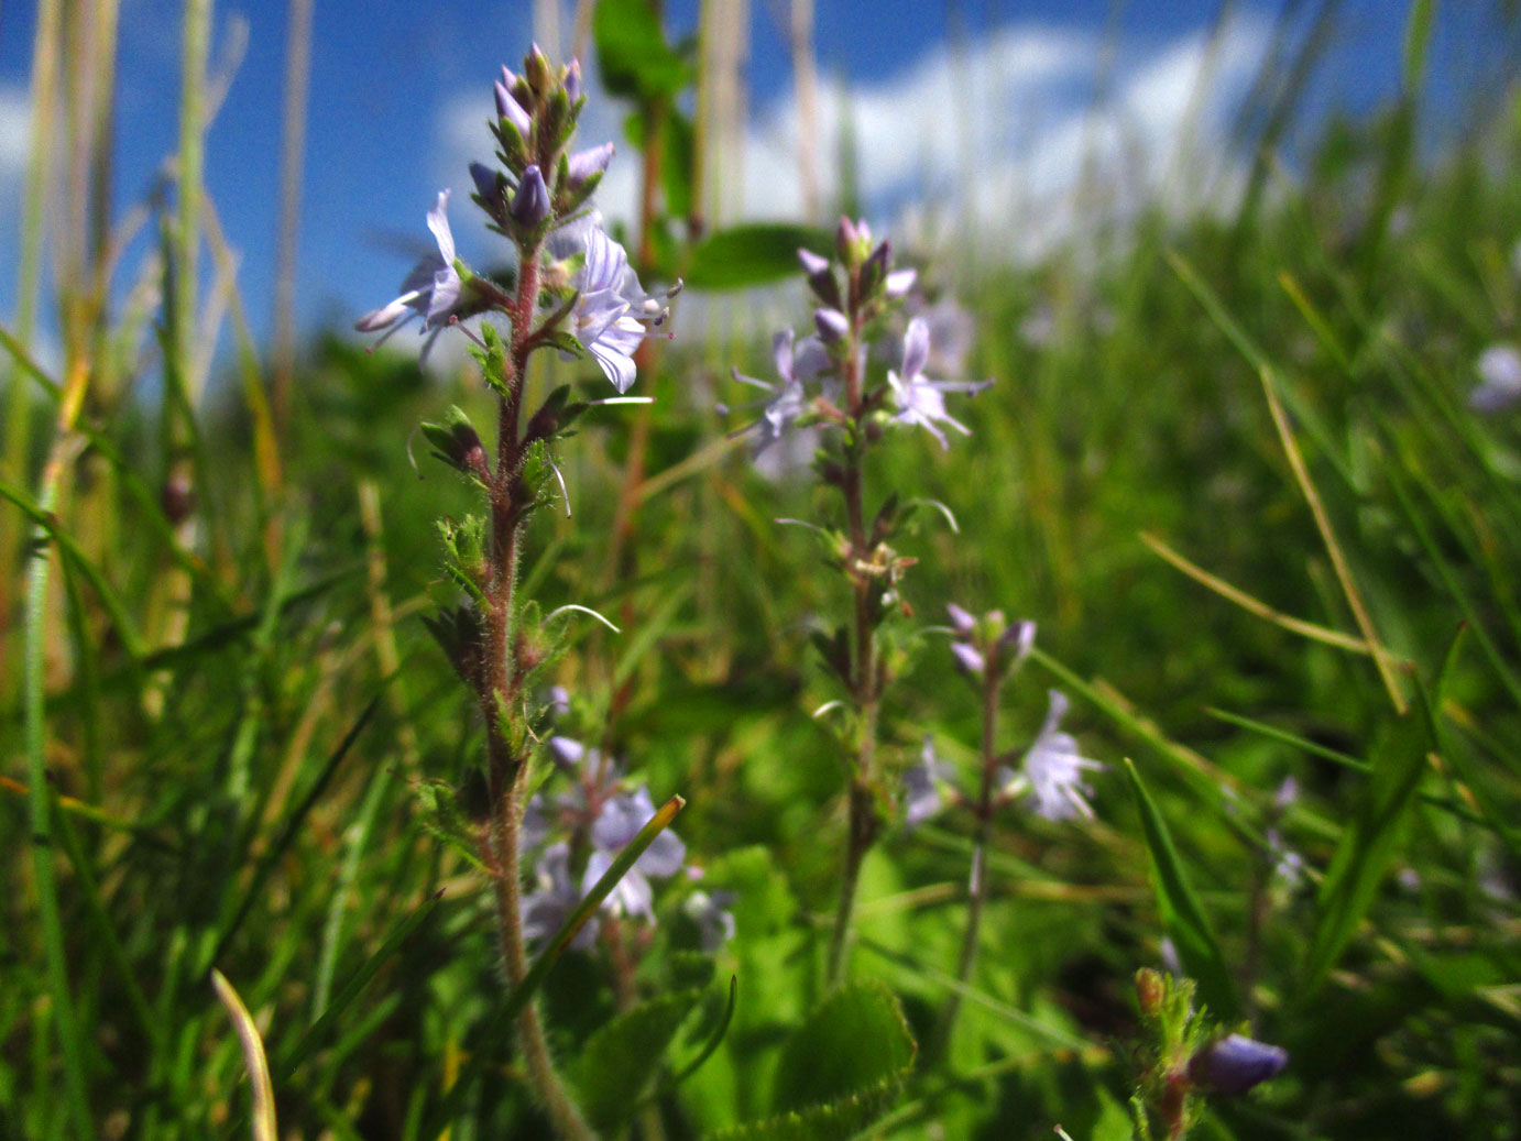
[[[214,965],[254,1015],[286,1130],[418,1136],[462,1074],[485,1073],[452,1136],[531,1135],[511,1060],[476,1050],[502,998],[488,893],[423,828],[430,782],[468,787],[479,755],[472,701],[418,621],[450,599],[432,520],[472,497],[408,449],[449,403],[488,423],[479,383],[424,376],[409,344],[254,342],[201,193],[205,3],[186,6],[166,181],[113,213],[117,17],[38,8],[37,105],[61,122],[33,135],[6,327],[0,1133],[242,1132]],[[1129,1135],[1129,980],[1164,949],[1124,756],[1171,823],[1243,1012],[1294,1056],[1206,1135],[1515,1135],[1521,437],[1513,414],[1466,400],[1478,353],[1521,336],[1521,102],[1471,91],[1474,128],[1422,152],[1430,6],[1399,18],[1404,94],[1325,122],[1293,172],[1275,148],[1308,78],[1264,62],[1244,116],[1265,123],[1261,181],[1232,210],[1147,202],[1018,265],[961,233],[923,266],[975,319],[967,373],[996,383],[949,453],[908,434],[878,452],[873,487],[960,520],[952,534],[923,514],[905,598],[925,624],[948,601],[1034,618],[1042,653],[1013,691],[1007,747],[1062,685],[1110,771],[1094,825],[999,820],[975,1001],[945,1073],[910,1086],[884,1135]],[[722,43],[701,58],[700,87],[736,82],[712,73],[733,58]],[[70,222],[44,248],[55,184]],[[123,284],[114,254],[138,230],[151,249]],[[651,242],[646,266],[678,265],[692,237],[662,233],[672,246]],[[56,297],[38,292],[44,256],[62,266]],[[46,370],[29,351],[44,306],[62,345]],[[566,660],[575,724],[657,796],[687,797],[677,831],[707,882],[739,892],[721,957],[735,1024],[663,1098],[675,1136],[765,1112],[776,1045],[817,1000],[844,825],[841,759],[809,718],[835,694],[808,650],[809,628],[843,619],[841,592],[806,534],[773,522],[814,516],[815,493],[759,475],[712,409],[730,365],[765,374],[765,330],[733,316],[745,306],[802,324],[791,294],[698,300],[686,327],[678,312],[640,379],[654,408],[587,418],[564,455],[575,514],[538,519],[526,558],[546,605],[624,627],[589,624]],[[213,358],[224,326],[236,351]],[[934,637],[905,668],[890,756],[910,762],[931,732],[970,771],[972,688]],[[1320,873],[1405,707],[1433,755],[1421,797],[1335,969],[1311,977]],[[1300,796],[1281,809],[1288,776]],[[1273,879],[1269,829],[1308,882]],[[893,834],[867,864],[855,969],[920,1031],[955,961],[967,852],[948,822]],[[680,917],[659,939],[678,945]],[[654,966],[645,981],[662,984]],[[589,993],[605,993],[599,965],[567,958],[546,996],[567,1053],[611,1009]]]

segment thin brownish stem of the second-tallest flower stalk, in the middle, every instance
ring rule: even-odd
[[[852,278],[855,271],[852,271]],[[852,280],[850,294],[856,284]],[[861,864],[876,840],[876,631],[872,622],[872,590],[878,589],[875,577],[867,570],[872,561],[872,542],[865,531],[865,505],[862,493],[862,469],[865,466],[865,402],[861,394],[859,351],[861,327],[856,307],[850,307],[850,335],[846,342],[844,386],[846,405],[852,420],[850,443],[846,452],[846,470],[841,491],[846,499],[846,525],[850,534],[847,572],[855,593],[855,631],[852,648],[855,659],[850,668],[850,698],[856,712],[856,756],[850,774],[850,831],[846,843],[846,863],[840,873],[840,902],[835,907],[835,926],[829,937],[829,966],[826,978],[830,986],[844,974],[846,954],[850,949],[850,925],[855,916],[856,892],[861,885]]]

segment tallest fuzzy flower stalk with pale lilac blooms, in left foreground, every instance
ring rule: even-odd
[[[535,698],[557,647],[549,619],[517,596],[517,552],[532,513],[564,497],[555,446],[587,408],[569,386],[529,405],[534,353],[592,358],[619,394],[634,382],[633,351],[665,318],[628,269],[622,246],[608,237],[592,195],[611,158],[611,145],[572,151],[586,99],[581,72],[554,67],[535,46],[520,75],[502,68],[493,85],[496,164],[473,163],[472,201],[488,228],[506,239],[513,271],[500,278],[475,274],[458,257],[449,224],[447,190],[427,215],[437,253],[408,274],[400,294],[357,321],[362,332],[391,336],[420,321],[426,348],[449,329],[473,342],[485,383],[496,394],[496,455],[459,409],[423,424],[435,455],[479,490],[484,514],[443,520],[446,569],[467,602],[444,610],[432,631],[475,692],[485,721],[488,818],[478,837],[496,890],[502,963],[510,986],[528,974],[528,928],[541,908],[525,908],[519,852],[526,809],[525,783],[537,741],[554,703]],[[674,291],[672,291],[674,292]],[[478,332],[465,321],[481,318]],[[634,808],[648,803],[637,802]],[[643,822],[636,822],[642,825]],[[631,884],[627,885],[631,890]],[[519,1016],[519,1045],[535,1095],[561,1136],[590,1136],[551,1060],[532,1003]]]

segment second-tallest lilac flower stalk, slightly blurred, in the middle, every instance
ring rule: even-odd
[[[967,429],[948,412],[946,394],[986,386],[926,376],[931,345],[922,318],[910,321],[893,345],[899,367],[885,376],[868,373],[868,348],[873,341],[891,336],[888,318],[913,288],[914,271],[893,269],[891,245],[873,242],[867,225],[849,218],[840,221],[834,253],[830,260],[811,249],[799,251],[818,307],[809,336],[799,341],[791,330],[777,335],[777,382],[735,371],[736,380],[770,393],[759,418],[741,429],[757,435],[757,450],[797,427],[821,429],[815,470],[827,487],[838,490],[843,508],[843,519],[817,528],[830,566],[843,572],[852,602],[849,625],[832,637],[818,637],[826,663],[844,686],[843,704],[849,709],[844,741],[850,756],[849,835],[829,942],[830,983],[844,971],[861,864],[881,829],[882,805],[890,802],[878,759],[878,710],[890,680],[879,639],[894,612],[907,613],[899,583],[914,563],[891,546],[910,508],[890,494],[868,511],[865,458],[875,443],[897,429],[923,427],[948,447],[945,427],[957,434]]]

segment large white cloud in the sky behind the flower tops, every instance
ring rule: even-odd
[[[975,231],[989,254],[1039,256],[1088,224],[1088,211],[1124,215],[1164,192],[1177,213],[1218,208],[1244,170],[1243,157],[1226,146],[1229,114],[1269,37],[1267,21],[1246,15],[1214,40],[1199,30],[1122,43],[1100,106],[1091,100],[1106,50],[1097,29],[1018,24],[960,52],[940,44],[894,75],[820,93],[824,201],[834,196],[834,157],[849,126],[873,216],[940,215],[941,227]],[[455,184],[490,143],[488,100],[482,85],[443,110],[438,167]],[[581,138],[621,141],[621,114],[619,103],[593,91]],[[788,90],[745,132],[742,186],[733,196],[741,218],[800,216],[797,138]],[[598,195],[604,213],[627,219],[637,180],[637,155],[621,143]]]

